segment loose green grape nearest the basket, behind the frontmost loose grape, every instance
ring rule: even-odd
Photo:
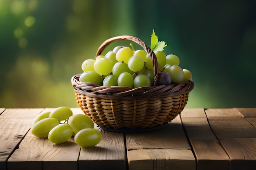
[[[76,114],[71,116],[67,124],[72,128],[74,134],[85,128],[93,128],[94,123],[90,117],[83,114]]]

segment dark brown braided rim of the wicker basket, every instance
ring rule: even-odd
[[[193,80],[180,84],[160,85],[151,87],[131,88],[125,86],[99,86],[93,83],[79,82],[79,75],[71,79],[74,91],[81,95],[104,99],[129,99],[164,98],[189,93],[193,90]]]

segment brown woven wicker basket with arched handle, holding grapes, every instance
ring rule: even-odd
[[[85,115],[105,130],[154,130],[172,121],[184,109],[194,83],[156,86],[159,77],[155,53],[144,42],[132,36],[118,36],[103,42],[96,57],[111,42],[131,40],[139,44],[151,57],[155,78],[152,87],[99,86],[79,82],[80,75],[72,77],[77,103]]]

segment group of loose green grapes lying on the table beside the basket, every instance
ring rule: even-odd
[[[102,138],[88,116],[73,115],[72,110],[65,106],[40,113],[32,121],[31,133],[36,137],[48,138],[55,144],[65,143],[74,136],[74,141],[83,148],[99,144]]]

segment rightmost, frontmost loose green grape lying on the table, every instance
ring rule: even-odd
[[[92,128],[82,129],[74,136],[76,144],[79,144],[79,146],[83,148],[88,148],[99,144],[101,138],[101,133]]]

